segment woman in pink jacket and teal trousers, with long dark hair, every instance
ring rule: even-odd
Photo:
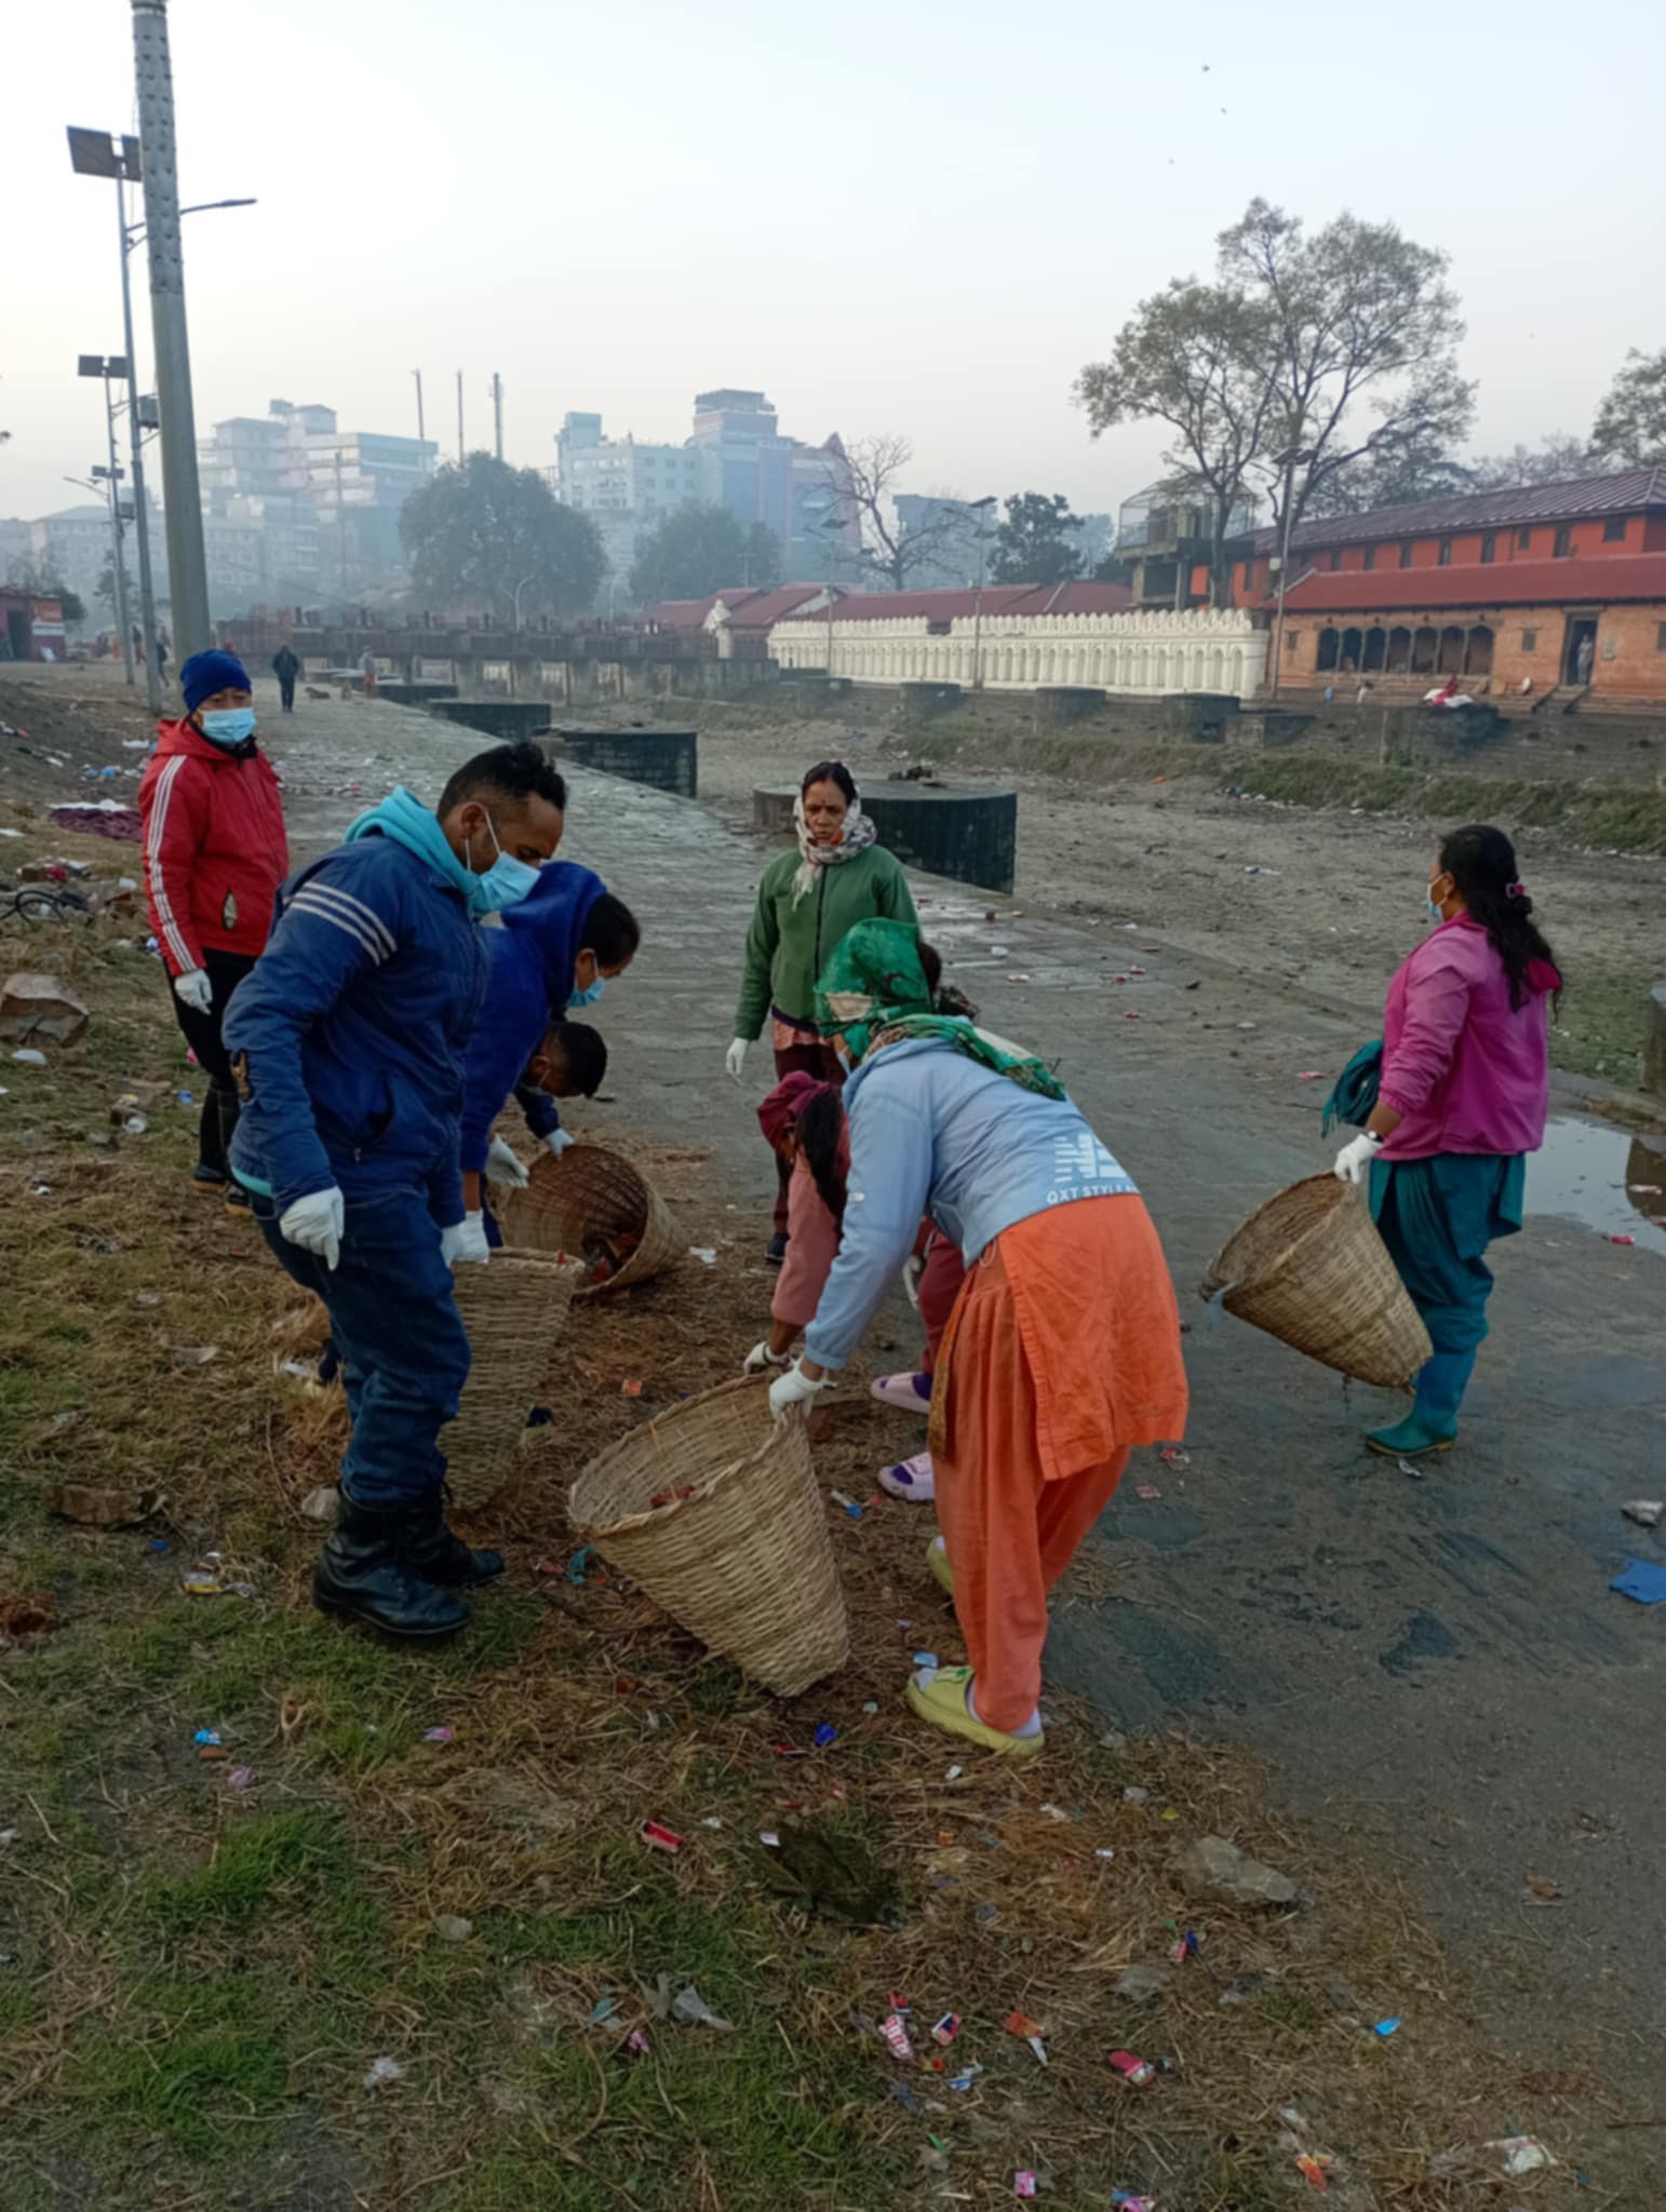
[[[1434,1358],[1409,1416],[1365,1442],[1449,1451],[1493,1287],[1485,1252],[1522,1225],[1527,1155],[1544,1144],[1549,998],[1562,989],[1502,830],[1471,823],[1429,874],[1440,925],[1389,984],[1383,1073],[1336,1175],[1370,1175],[1372,1219],[1423,1314]]]

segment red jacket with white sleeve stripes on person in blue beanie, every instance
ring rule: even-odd
[[[265,949],[290,841],[263,752],[210,745],[188,721],[159,732],[139,779],[144,891],[168,973],[184,975],[204,964],[204,949]]]

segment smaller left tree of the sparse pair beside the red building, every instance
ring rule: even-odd
[[[1093,436],[1117,422],[1166,422],[1164,467],[1208,518],[1210,597],[1228,593],[1226,540],[1250,469],[1268,445],[1274,332],[1266,310],[1230,285],[1175,279],[1144,299],[1108,361],[1075,380]]]

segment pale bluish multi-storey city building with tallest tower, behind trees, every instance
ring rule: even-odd
[[[684,445],[606,438],[600,414],[569,414],[555,431],[551,491],[602,533],[613,593],[628,593],[642,538],[677,507],[726,507],[737,522],[763,522],[781,544],[788,575],[856,560],[850,467],[839,438],[803,445],[781,436],[761,392],[701,392]],[[825,526],[823,526],[825,524]]]

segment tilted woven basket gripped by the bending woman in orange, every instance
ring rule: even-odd
[[[611,1444],[566,1511],[580,1542],[777,1697],[850,1657],[810,1438],[770,1420],[761,1383],[723,1383]]]

